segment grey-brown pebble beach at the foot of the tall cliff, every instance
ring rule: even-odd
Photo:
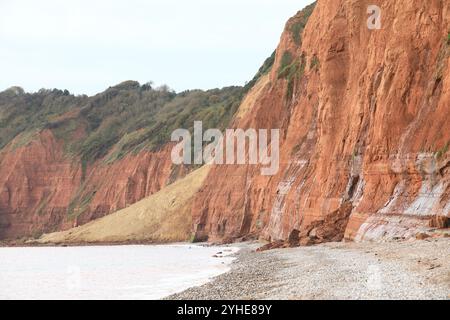
[[[164,300],[450,299],[450,239],[338,242],[256,252]]]

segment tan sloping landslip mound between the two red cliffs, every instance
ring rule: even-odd
[[[68,231],[43,235],[39,243],[186,241],[191,232],[191,201],[209,166],[128,208]]]

